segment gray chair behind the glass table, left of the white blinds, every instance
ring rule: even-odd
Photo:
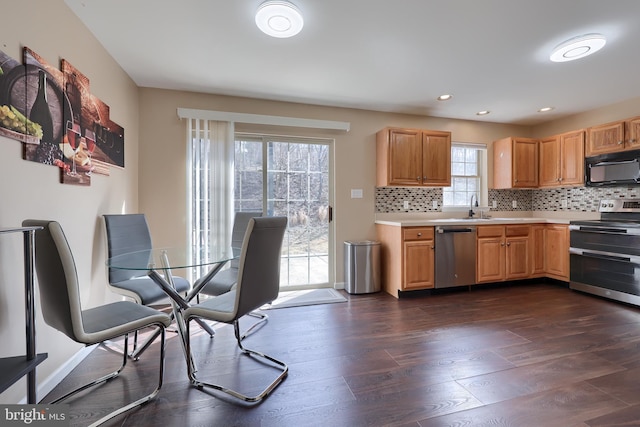
[[[151,233],[144,214],[103,215],[107,231],[107,256],[109,258],[137,251],[151,250]],[[176,291],[186,293],[189,282],[172,276]],[[119,270],[109,268],[109,288],[138,304],[152,305],[167,298],[146,270]]]

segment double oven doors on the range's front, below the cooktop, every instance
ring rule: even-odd
[[[571,289],[640,306],[640,230],[569,228]]]

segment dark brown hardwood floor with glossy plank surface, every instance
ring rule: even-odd
[[[266,326],[245,340],[289,364],[289,376],[261,404],[190,386],[170,333],[158,397],[111,425],[640,425],[636,307],[554,283],[400,300],[345,296],[346,303],[269,310]],[[251,392],[274,375],[238,356],[231,326],[216,325],[214,339],[193,329],[207,380]],[[71,424],[86,425],[150,391],[157,347],[120,378],[69,401]],[[44,401],[118,362],[109,349],[96,348]]]

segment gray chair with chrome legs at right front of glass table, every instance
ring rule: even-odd
[[[250,350],[242,345],[238,320],[245,314],[272,302],[278,297],[280,288],[280,256],[282,241],[287,227],[285,217],[251,218],[242,244],[238,265],[238,281],[229,292],[209,298],[184,311],[187,326],[187,351],[191,354],[189,324],[193,319],[207,319],[233,324],[238,347],[242,354],[262,360],[270,367],[277,368],[279,374],[262,392],[247,396],[221,385],[206,383],[196,377],[195,366],[190,366],[188,375],[191,383],[198,388],[210,387],[246,402],[264,399],[287,375],[287,365],[271,356]],[[259,375],[256,375],[259,377]]]

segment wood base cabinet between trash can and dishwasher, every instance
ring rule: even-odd
[[[376,231],[387,293],[397,298],[402,291],[434,287],[434,227],[376,224]]]

